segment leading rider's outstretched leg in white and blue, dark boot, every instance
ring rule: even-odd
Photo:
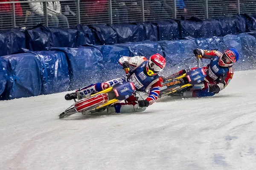
[[[84,88],[81,88],[79,90],[77,90],[74,93],[71,94],[66,94],[65,95],[65,99],[66,100],[72,100],[72,99],[82,99],[82,98],[86,98],[88,96],[90,96],[93,93],[105,90],[109,87],[112,87],[113,85],[119,83],[119,82],[123,82],[124,79],[123,78],[118,78],[118,79],[112,79],[110,81],[107,82],[98,82],[96,84],[91,84],[88,85]]]

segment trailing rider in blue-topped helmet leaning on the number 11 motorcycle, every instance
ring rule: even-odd
[[[210,63],[203,67],[207,76],[204,78],[204,88],[200,90],[185,91],[184,97],[213,96],[223,90],[233,78],[234,70],[232,65],[239,59],[235,48],[230,48],[222,54],[220,51],[208,51],[195,49],[195,57],[210,59]],[[195,68],[191,68],[193,70]],[[183,70],[184,71],[184,70]]]

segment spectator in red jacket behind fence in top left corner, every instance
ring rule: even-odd
[[[9,1],[19,1],[19,0],[0,0],[0,2],[9,2]],[[20,24],[21,20],[23,19],[23,11],[20,6],[20,3],[15,3],[15,17],[16,17],[16,24]],[[5,3],[0,4],[0,23],[1,28],[4,29],[11,29],[12,27],[12,4]]]

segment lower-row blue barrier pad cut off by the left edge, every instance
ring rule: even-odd
[[[7,62],[0,58],[0,99],[4,99],[2,94],[6,88],[7,78]]]

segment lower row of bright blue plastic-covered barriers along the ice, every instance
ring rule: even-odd
[[[51,94],[75,90],[124,75],[118,64],[121,56],[159,53],[166,58],[163,76],[196,66],[194,48],[236,48],[240,59],[236,70],[256,69],[256,33],[186,40],[130,42],[117,45],[49,48],[0,57],[0,99]],[[203,64],[207,64],[204,59]]]

